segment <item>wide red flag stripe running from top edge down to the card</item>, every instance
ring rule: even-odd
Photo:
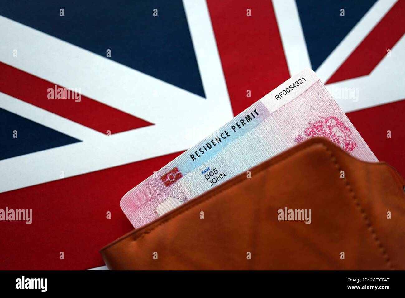
[[[269,0],[207,3],[233,113],[237,115],[290,78],[273,6]],[[247,90],[252,97],[247,97]]]

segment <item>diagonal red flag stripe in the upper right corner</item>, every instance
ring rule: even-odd
[[[405,33],[405,1],[398,1],[326,84],[368,75]],[[402,55],[402,53],[392,53]]]

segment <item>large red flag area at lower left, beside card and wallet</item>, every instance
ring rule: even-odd
[[[99,249],[133,229],[121,197],[181,153],[1,193],[0,209],[32,209],[32,223],[1,222],[0,269],[104,265]]]

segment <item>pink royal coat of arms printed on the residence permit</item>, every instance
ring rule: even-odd
[[[294,141],[301,143],[311,137],[326,137],[346,152],[351,152],[356,148],[356,142],[351,138],[352,132],[336,116],[328,118],[319,116],[319,118],[323,120],[317,120],[315,123],[308,122],[309,127],[304,131],[307,137],[298,135]]]

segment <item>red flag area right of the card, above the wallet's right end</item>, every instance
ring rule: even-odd
[[[347,113],[347,117],[379,161],[385,161],[405,177],[405,100]],[[391,131],[391,138],[387,137]]]

